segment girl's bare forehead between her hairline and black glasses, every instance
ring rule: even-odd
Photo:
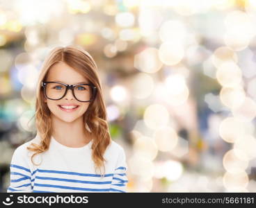
[[[87,78],[65,64],[65,62],[58,62],[49,69],[47,81],[58,81],[68,85],[88,83]]]

